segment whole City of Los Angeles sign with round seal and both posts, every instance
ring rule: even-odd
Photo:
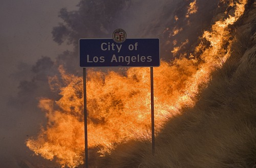
[[[159,39],[126,39],[122,29],[116,29],[113,39],[80,39],[80,66],[84,72],[84,135],[85,165],[88,168],[88,136],[85,67],[150,67],[152,154],[154,147],[154,86],[153,67],[160,66]]]

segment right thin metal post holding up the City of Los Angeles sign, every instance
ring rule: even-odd
[[[155,128],[154,128],[154,83],[153,67],[150,67],[150,86],[151,86],[151,131],[152,131],[152,154],[155,154]]]

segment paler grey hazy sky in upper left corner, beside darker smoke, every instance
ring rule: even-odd
[[[34,64],[41,56],[56,57],[66,46],[52,41],[58,11],[75,10],[79,0],[0,0],[1,97],[14,88],[9,81],[19,63]],[[4,86],[4,87],[3,87]],[[7,90],[8,92],[6,92]],[[2,102],[2,100],[1,100]]]

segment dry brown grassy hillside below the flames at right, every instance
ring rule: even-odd
[[[150,142],[133,141],[113,151],[102,167],[256,167],[255,4],[247,11],[234,26],[232,57],[213,74],[196,106],[168,121],[156,137],[155,156]]]

